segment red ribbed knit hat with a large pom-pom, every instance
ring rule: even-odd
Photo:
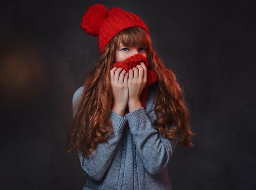
[[[94,4],[85,11],[81,28],[88,34],[99,36],[99,51],[103,53],[108,42],[120,31],[137,26],[148,33],[146,24],[137,15],[113,7],[109,10],[103,4]]]

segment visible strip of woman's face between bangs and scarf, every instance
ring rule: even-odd
[[[124,61],[128,57],[138,53],[144,55],[144,57],[147,57],[146,47],[128,47],[123,46],[123,44],[120,43],[119,48],[116,51],[115,62]]]

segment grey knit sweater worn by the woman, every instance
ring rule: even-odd
[[[73,118],[84,86],[73,95]],[[88,178],[83,190],[171,190],[167,164],[177,141],[164,138],[153,128],[157,118],[153,109],[154,89],[141,107],[124,117],[110,109],[113,135],[108,142],[97,144],[89,157],[78,156]],[[125,128],[128,122],[130,128]],[[173,128],[170,126],[170,129]]]

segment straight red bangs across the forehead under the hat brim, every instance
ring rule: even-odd
[[[130,27],[119,32],[117,35],[117,48],[119,48],[120,42],[127,47],[150,47],[150,37],[144,29],[139,27]]]

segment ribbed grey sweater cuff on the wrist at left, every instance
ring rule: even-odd
[[[108,118],[112,121],[113,131],[114,132],[117,131],[117,133],[119,133],[119,134],[123,133],[123,129],[127,122],[127,119],[125,117],[118,115],[112,109],[110,109]]]

